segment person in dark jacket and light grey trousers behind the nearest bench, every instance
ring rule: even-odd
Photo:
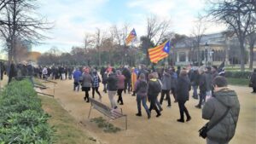
[[[110,104],[111,104],[111,107],[113,109],[116,109],[117,106],[116,106],[116,102],[114,100],[114,95],[116,95],[116,91],[118,89],[118,78],[115,74],[115,70],[112,69],[112,71],[109,72],[109,75],[108,75],[108,86],[107,86],[107,89],[108,89],[108,98],[109,98],[109,101],[110,101]]]

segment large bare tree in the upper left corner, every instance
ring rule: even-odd
[[[9,64],[15,54],[17,39],[39,43],[47,38],[43,33],[52,28],[36,9],[37,0],[11,0],[1,10],[0,37],[7,43]]]

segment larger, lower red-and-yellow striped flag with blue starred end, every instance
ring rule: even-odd
[[[150,61],[153,63],[157,63],[159,60],[166,58],[169,55],[170,49],[170,41],[162,43],[152,49],[148,49]]]

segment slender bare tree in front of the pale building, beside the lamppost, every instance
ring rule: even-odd
[[[193,57],[196,51],[196,60],[198,62],[198,66],[201,65],[201,51],[200,51],[200,43],[201,38],[204,36],[205,32],[207,31],[207,26],[203,23],[203,20],[201,18],[198,18],[198,20],[195,22],[195,27],[192,31],[192,37],[191,37],[191,50],[193,52]]]

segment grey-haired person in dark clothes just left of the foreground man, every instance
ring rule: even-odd
[[[198,105],[196,105],[196,108],[201,108],[202,102],[206,101],[206,96],[207,96],[207,76],[205,73],[205,67],[201,66],[199,68],[199,90],[200,90],[200,99]]]

